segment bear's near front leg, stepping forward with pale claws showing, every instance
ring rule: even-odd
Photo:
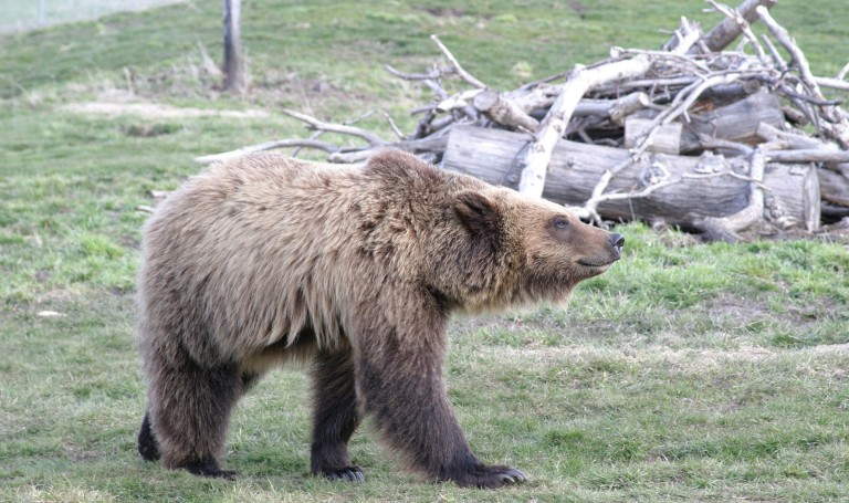
[[[420,313],[419,313],[420,314]],[[526,480],[515,469],[480,462],[465,441],[446,392],[444,321],[403,333],[369,324],[356,355],[357,392],[367,413],[411,468],[461,486],[500,488]],[[436,326],[440,331],[422,327]]]

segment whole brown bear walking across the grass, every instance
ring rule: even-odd
[[[347,442],[370,415],[410,468],[462,486],[525,480],[474,457],[442,364],[451,313],[564,301],[621,255],[563,207],[395,150],[364,167],[259,154],[212,166],[145,228],[138,450],[219,464],[230,413],[269,369],[310,365],[311,469],[364,480]]]

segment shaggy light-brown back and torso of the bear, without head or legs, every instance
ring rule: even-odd
[[[256,154],[189,179],[146,226],[147,317],[189,317],[207,334],[184,334],[186,345],[210,337],[235,359],[293,344],[307,327],[333,344],[340,304],[417,274],[430,213],[463,180],[392,154],[376,159],[352,167]]]

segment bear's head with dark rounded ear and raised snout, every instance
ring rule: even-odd
[[[564,207],[514,190],[482,187],[452,195],[463,232],[452,258],[462,271],[450,285],[461,311],[560,303],[577,283],[601,274],[622,254],[625,238],[581,222]]]

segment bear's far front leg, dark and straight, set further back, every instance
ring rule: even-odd
[[[314,475],[361,482],[363,470],[350,464],[347,443],[359,425],[350,349],[319,352],[313,367],[313,446],[311,470]]]

